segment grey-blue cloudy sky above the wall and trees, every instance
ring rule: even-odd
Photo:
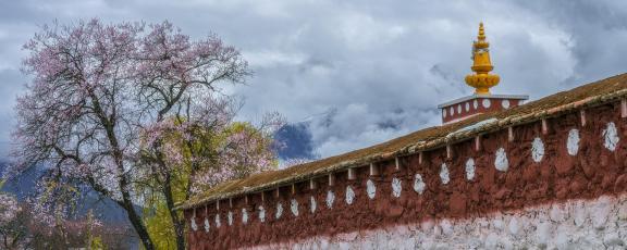
[[[538,99],[627,72],[627,1],[0,0],[0,157],[27,77],[22,45],[44,24],[169,20],[239,48],[255,75],[225,91],[241,117],[278,111],[329,157],[440,124],[437,104],[472,92],[483,21],[499,93]]]

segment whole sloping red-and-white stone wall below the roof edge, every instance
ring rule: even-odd
[[[186,211],[193,249],[619,248],[627,123],[615,102]],[[420,157],[421,155],[421,157]],[[377,173],[373,173],[377,174]],[[247,202],[246,202],[247,201]]]

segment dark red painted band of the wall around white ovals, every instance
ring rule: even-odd
[[[233,209],[221,202],[221,227],[216,228],[216,205],[209,204],[211,229],[204,230],[204,209],[197,210],[198,230],[188,230],[190,249],[224,249],[248,247],[271,242],[304,239],[317,235],[334,235],[360,229],[381,228],[393,224],[407,224],[429,218],[465,218],[489,214],[494,211],[519,210],[568,199],[591,199],[601,195],[619,193],[627,190],[627,149],[624,141],[627,126],[619,116],[619,103],[593,108],[586,112],[588,124],[581,127],[579,112],[549,120],[549,132],[542,135],[541,123],[514,127],[515,141],[507,140],[507,129],[488,134],[481,140],[480,151],[475,151],[474,141],[453,145],[453,157],[446,159],[445,149],[425,153],[426,161],[418,163],[418,155],[402,159],[402,171],[395,171],[394,162],[382,162],[380,177],[369,177],[368,167],[358,170],[356,180],[348,180],[346,173],[336,174],[336,183],[329,187],[327,178],[318,179],[318,189],[308,190],[307,183],[297,185],[295,196],[290,188],[281,189],[281,197],[266,193],[261,202],[259,193],[249,196],[249,221],[242,224],[243,199],[234,199]],[[614,122],[620,141],[612,152],[603,146],[603,129]],[[571,128],[579,129],[579,152],[567,153],[566,140]],[[544,157],[540,163],[531,159],[531,141],[539,137],[544,143]],[[494,167],[494,152],[503,147],[509,162],[508,171]],[[465,163],[468,158],[476,162],[476,175],[466,179]],[[443,185],[440,167],[445,162],[451,182]],[[414,175],[420,173],[427,190],[419,195],[413,189]],[[399,198],[392,196],[391,180],[402,178]],[[377,195],[370,200],[366,195],[366,182],[372,178]],[[351,185],[356,198],[346,204],[345,190]],[[325,205],[327,190],[333,190],[335,202],[332,209]],[[317,211],[309,212],[310,196],[316,197]],[[299,203],[299,215],[290,211],[290,199]],[[283,216],[274,218],[276,201],[283,203]],[[266,208],[266,222],[258,218],[257,207]],[[234,225],[226,224],[226,212],[234,213]],[[192,211],[185,211],[188,222]]]

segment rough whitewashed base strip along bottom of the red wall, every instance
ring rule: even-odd
[[[256,249],[626,249],[627,196],[458,221],[312,237]]]

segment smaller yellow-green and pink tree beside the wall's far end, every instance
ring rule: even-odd
[[[257,126],[232,122],[231,99],[207,99],[201,109],[175,115],[145,130],[146,222],[160,249],[185,247],[185,217],[175,204],[218,183],[274,168],[272,134],[283,123],[269,114]],[[200,112],[198,112],[200,111]]]

